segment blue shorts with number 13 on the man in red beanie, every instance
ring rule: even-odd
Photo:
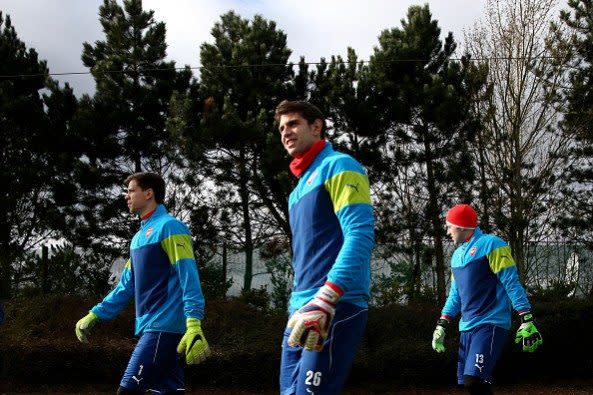
[[[500,358],[509,331],[494,325],[480,325],[461,332],[457,383],[463,384],[463,376],[475,376],[492,382],[492,371]]]

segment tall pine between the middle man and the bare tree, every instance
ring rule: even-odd
[[[420,264],[435,263],[442,301],[443,212],[452,199],[469,199],[473,166],[467,144],[476,122],[469,112],[467,63],[451,59],[457,46],[453,35],[442,42],[440,33],[427,5],[412,6],[401,28],[381,33],[369,67],[373,103],[385,125],[382,214],[391,217],[378,223],[399,222],[399,230],[408,233],[416,284],[411,289],[419,289]],[[427,250],[421,245],[426,236],[431,240]]]

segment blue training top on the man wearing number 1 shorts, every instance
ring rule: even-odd
[[[184,333],[186,318],[204,317],[204,296],[189,230],[161,204],[134,235],[119,283],[91,311],[108,320],[131,298],[136,304],[137,335]]]

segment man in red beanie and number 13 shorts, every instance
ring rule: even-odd
[[[521,325],[515,342],[533,352],[542,344],[531,305],[519,282],[507,243],[478,228],[478,215],[467,204],[447,212],[447,235],[460,244],[451,257],[451,289],[432,337],[432,348],[445,351],[445,331],[461,313],[457,382],[470,394],[491,394],[492,371],[511,328],[511,306]]]

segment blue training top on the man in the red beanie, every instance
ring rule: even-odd
[[[531,310],[511,249],[499,237],[476,228],[453,252],[451,270],[451,289],[442,315],[461,313],[460,331],[483,324],[509,329],[511,306],[519,312]]]

